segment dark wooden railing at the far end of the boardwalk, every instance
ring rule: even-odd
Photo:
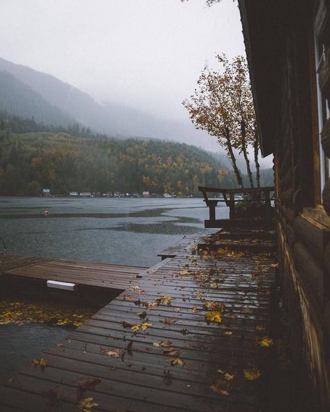
[[[271,192],[274,192],[273,186],[266,188],[243,188],[243,189],[223,189],[223,188],[210,188],[208,186],[198,186],[198,189],[202,192],[205,204],[209,207],[209,224],[216,222],[216,206],[218,202],[224,202],[226,206],[230,208],[230,219],[236,217],[235,203],[238,201],[262,201],[266,206],[269,206],[271,210]],[[220,193],[222,199],[209,199],[207,193]],[[235,194],[250,194],[248,199],[237,199]],[[266,207],[267,208],[267,207]],[[209,226],[211,227],[211,226]]]

